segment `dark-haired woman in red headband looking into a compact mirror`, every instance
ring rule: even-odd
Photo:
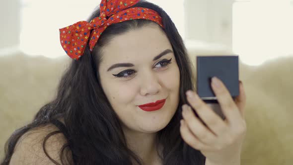
[[[242,83],[233,101],[213,78],[222,120],[194,91],[163,9],[102,0],[87,21],[60,29],[60,40],[74,60],[58,95],[11,135],[1,165],[240,165]]]

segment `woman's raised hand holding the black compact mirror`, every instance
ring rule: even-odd
[[[196,92],[189,90],[190,93],[186,92],[187,100],[207,126],[196,117],[190,106],[184,104],[181,136],[187,144],[206,157],[206,165],[240,165],[241,147],[246,134],[246,96],[243,84],[239,83],[239,96],[235,101],[219,79],[212,79],[212,88],[225,120],[222,120]]]

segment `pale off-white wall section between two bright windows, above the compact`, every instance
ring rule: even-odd
[[[232,49],[234,0],[185,0],[186,39]]]

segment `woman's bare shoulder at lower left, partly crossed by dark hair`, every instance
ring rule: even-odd
[[[51,136],[47,136],[47,135]],[[18,140],[14,148],[9,165],[56,165],[44,152],[43,143],[45,143],[46,153],[57,163],[61,163],[60,152],[62,147],[67,144],[64,134],[54,124],[48,124],[43,127],[34,128]],[[65,148],[63,162],[72,163],[72,153],[68,147]]]

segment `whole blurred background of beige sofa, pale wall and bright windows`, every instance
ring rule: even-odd
[[[148,0],[198,55],[238,55],[247,95],[242,165],[292,165],[293,0]],[[70,62],[59,28],[100,0],[0,1],[0,159],[11,133],[56,94]]]

